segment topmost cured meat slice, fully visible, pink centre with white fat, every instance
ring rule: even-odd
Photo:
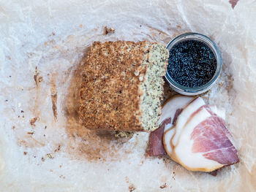
[[[200,107],[184,125],[173,155],[179,164],[192,171],[211,172],[236,164],[237,150],[229,137],[224,120],[210,107]]]

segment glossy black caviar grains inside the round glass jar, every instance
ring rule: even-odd
[[[204,42],[184,40],[170,50],[167,73],[180,85],[196,88],[214,77],[217,60]]]

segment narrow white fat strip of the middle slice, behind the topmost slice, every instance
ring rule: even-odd
[[[194,99],[194,101],[192,101],[189,105],[187,105],[187,107],[184,108],[184,110],[181,112],[180,115],[178,115],[176,126],[175,126],[176,132],[173,135],[173,139],[171,140],[173,146],[177,145],[182,128],[187,123],[187,120],[189,120],[192,114],[205,104],[206,103],[205,101],[203,101],[203,99],[201,99],[200,97],[197,97],[196,99]]]

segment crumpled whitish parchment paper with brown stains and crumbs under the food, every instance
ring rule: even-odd
[[[256,1],[0,1],[0,191],[255,191]],[[103,34],[104,26],[113,34]],[[211,37],[241,162],[214,177],[145,155],[148,134],[113,139],[77,123],[83,54],[94,41]]]

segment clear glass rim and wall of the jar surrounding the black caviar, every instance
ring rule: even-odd
[[[217,45],[209,37],[206,37],[203,34],[197,34],[197,33],[187,33],[187,34],[179,35],[178,37],[176,37],[175,39],[171,40],[168,43],[168,45],[166,46],[167,50],[170,51],[174,45],[184,40],[196,40],[196,41],[204,42],[213,51],[217,61],[217,68],[214,73],[214,76],[205,85],[201,85],[200,87],[195,87],[195,88],[184,87],[183,85],[179,85],[177,82],[175,82],[170,77],[170,74],[168,72],[165,74],[165,79],[169,83],[170,88],[173,88],[174,91],[186,96],[195,96],[208,91],[212,87],[212,85],[214,85],[214,82],[217,81],[219,74],[222,71],[222,56],[219,53],[219,48],[217,47]]]

